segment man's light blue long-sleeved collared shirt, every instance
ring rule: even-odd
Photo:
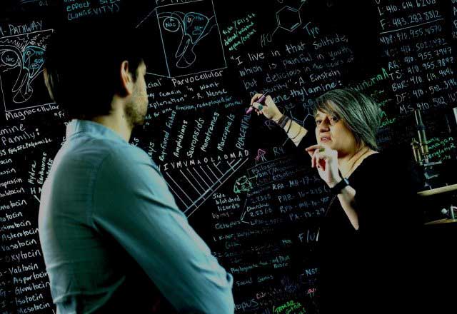
[[[157,166],[99,123],[68,124],[41,192],[39,235],[61,314],[151,309],[141,305],[154,297],[149,284],[179,312],[233,313],[232,276]]]

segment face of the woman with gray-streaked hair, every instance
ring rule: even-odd
[[[332,101],[330,104],[336,106]],[[322,111],[317,111],[314,118],[318,144],[338,151],[338,158],[356,152],[356,138],[344,121]]]

